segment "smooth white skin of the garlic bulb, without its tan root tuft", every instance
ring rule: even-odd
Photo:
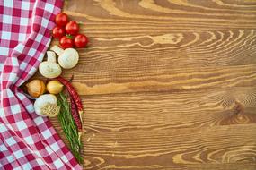
[[[57,98],[55,95],[52,94],[45,94],[41,95],[39,98],[36,99],[34,103],[34,109],[37,115],[41,116],[47,116],[47,115],[42,115],[41,113],[41,108],[43,106],[46,106],[47,104],[57,104]]]

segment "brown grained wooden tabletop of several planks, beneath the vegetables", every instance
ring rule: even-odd
[[[68,0],[64,12],[90,38],[64,74],[85,107],[84,169],[256,169],[255,0]]]

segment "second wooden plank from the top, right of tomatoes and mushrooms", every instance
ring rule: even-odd
[[[96,71],[106,67],[115,69],[115,65],[116,69],[136,72],[140,67],[154,69],[163,63],[169,68],[256,64],[253,57],[256,54],[255,30],[199,31],[167,27],[154,31],[149,27],[148,32],[144,30],[137,35],[116,30],[122,36],[117,38],[108,32],[93,35],[85,28],[82,32],[90,35],[90,44],[89,48],[79,50],[82,55],[80,64],[91,72],[95,67]]]

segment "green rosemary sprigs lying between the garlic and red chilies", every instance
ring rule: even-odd
[[[70,104],[67,102],[68,95],[60,92],[57,99],[57,105],[60,106],[60,113],[57,118],[62,126],[66,139],[69,141],[70,149],[76,160],[81,163],[83,157],[80,155],[81,143],[78,140],[78,131],[75,121],[72,117]]]

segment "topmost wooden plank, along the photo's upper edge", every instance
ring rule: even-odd
[[[183,1],[183,0],[73,0],[66,4],[65,11],[78,19],[87,19],[98,25],[125,22],[129,24],[148,23],[161,24],[186,24],[197,28],[202,25],[211,28],[253,28],[255,26],[255,2],[247,1]],[[75,12],[72,10],[75,8]],[[199,25],[197,25],[199,24]],[[106,25],[105,25],[106,26]],[[226,28],[228,26],[228,28]],[[195,29],[195,28],[193,28]]]

